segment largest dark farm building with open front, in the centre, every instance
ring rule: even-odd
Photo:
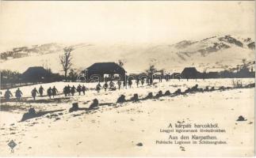
[[[105,74],[109,74],[110,77],[118,74],[121,80],[124,80],[126,71],[115,62],[97,62],[82,71],[82,73],[86,74],[87,81],[97,80],[97,78],[99,81],[104,81]]]

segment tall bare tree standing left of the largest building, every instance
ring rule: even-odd
[[[63,71],[65,73],[65,80],[67,80],[67,71],[71,69],[71,65],[72,65],[71,51],[73,51],[73,48],[65,47],[64,55],[59,56],[60,63],[63,66]]]

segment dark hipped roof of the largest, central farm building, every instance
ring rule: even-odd
[[[125,70],[115,62],[97,62],[86,70],[89,73],[125,73]]]

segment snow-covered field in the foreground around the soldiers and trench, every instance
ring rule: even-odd
[[[244,85],[254,83],[254,79],[237,79]],[[235,79],[235,81],[237,81]],[[44,84],[62,91],[64,85],[78,83],[55,82]],[[134,93],[139,98],[148,92],[155,95],[159,90],[184,91],[193,85],[232,87],[232,79],[169,81],[152,86],[133,85],[117,91],[94,90],[95,84],[85,84],[85,96],[56,99],[47,96],[32,101],[30,92],[40,85],[21,87],[22,102],[2,102],[0,111],[0,156],[253,156],[254,154],[254,88],[237,88],[225,91],[197,92],[181,96],[163,96],[159,100],[144,100],[139,103],[116,104],[118,96],[124,94],[130,99]],[[16,88],[11,89],[14,93]],[[4,91],[2,91],[4,92]],[[75,111],[69,113],[71,103],[88,107],[94,99],[101,107],[96,111]],[[7,108],[8,107],[8,108]],[[29,107],[36,111],[63,111],[44,115],[36,119],[19,122]],[[236,122],[239,115],[247,121]],[[227,132],[217,134],[228,145],[156,145],[156,140],[166,137],[159,129],[169,122],[205,123],[218,122]],[[10,152],[9,141],[17,146]],[[138,146],[142,143],[143,146]],[[181,150],[181,146],[185,151]],[[218,151],[218,152],[209,152]]]

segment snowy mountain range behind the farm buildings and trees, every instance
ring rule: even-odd
[[[231,35],[211,36],[202,40],[182,40],[162,44],[105,44],[79,43],[65,45],[46,43],[29,47],[14,47],[1,52],[1,69],[23,73],[29,66],[44,66],[52,72],[62,73],[59,55],[64,47],[73,47],[72,68],[84,70],[94,62],[124,62],[128,73],[139,73],[150,65],[167,72],[180,72],[184,67],[196,67],[200,71],[228,70],[253,62],[255,42],[250,38]]]

